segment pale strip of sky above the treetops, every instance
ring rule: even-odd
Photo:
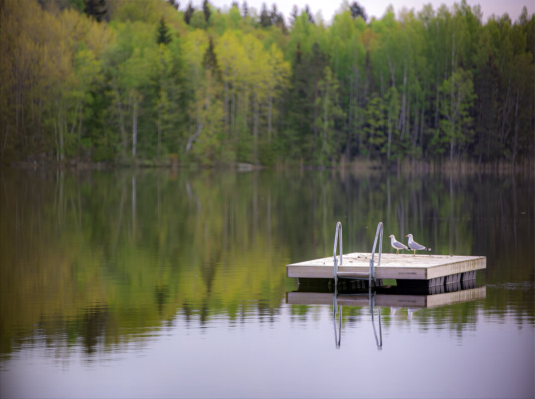
[[[196,9],[202,7],[203,0],[193,0],[192,4]],[[233,0],[209,0],[210,3],[221,11],[224,11],[230,7]],[[247,0],[247,5],[249,8],[255,7],[259,13],[262,7],[262,3],[268,5],[268,10],[272,9],[273,3],[277,4],[277,9],[284,14],[286,20],[288,20],[289,14],[292,11],[293,5],[297,5],[297,8],[301,12],[305,4],[308,4],[312,14],[316,14],[321,10],[322,16],[326,24],[330,24],[332,17],[340,9],[340,5],[343,0]],[[348,0],[349,4],[353,0]],[[243,0],[236,0],[241,6]],[[424,4],[431,3],[433,10],[437,10],[441,4],[446,4],[446,6],[451,9],[454,3],[460,3],[461,1],[454,0],[427,0],[427,1],[418,1],[418,0],[361,0],[357,2],[364,7],[366,14],[368,14],[368,21],[370,17],[381,18],[385,13],[386,8],[389,4],[394,6],[394,11],[396,14],[403,6],[406,6],[407,9],[414,8],[415,12],[421,11]],[[180,8],[184,8],[188,0],[180,1]],[[528,14],[535,13],[535,0],[467,0],[467,4],[474,6],[479,4],[483,12],[483,22],[486,22],[488,17],[492,14],[501,16],[503,13],[508,13],[511,21],[516,21],[518,16],[522,12],[522,7],[525,5],[528,9]]]

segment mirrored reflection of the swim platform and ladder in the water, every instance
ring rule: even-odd
[[[355,288],[357,286],[358,288]],[[288,304],[326,305],[332,303],[334,341],[337,349],[341,344],[343,306],[368,307],[377,349],[382,349],[381,307],[389,307],[391,316],[398,310],[407,309],[407,318],[411,320],[412,314],[423,308],[432,309],[485,298],[486,286],[477,287],[476,280],[458,281],[435,287],[385,286],[375,288],[361,288],[355,281],[343,281],[334,289],[330,285],[300,284],[296,291],[286,293]],[[378,326],[374,319],[376,308]]]

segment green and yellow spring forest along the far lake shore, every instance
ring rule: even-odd
[[[313,11],[0,2],[0,161],[532,165],[535,14]]]

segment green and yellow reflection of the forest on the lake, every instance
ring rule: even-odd
[[[480,272],[487,279],[533,280],[526,266],[534,257],[530,178],[166,173],[2,171],[2,352],[15,326],[32,334],[43,314],[58,309],[65,318],[83,314],[72,334],[87,348],[99,336],[159,326],[177,315],[187,324],[206,325],[215,314],[272,323],[294,284],[284,265],[327,256],[339,220],[346,252],[370,251],[373,226],[383,221],[385,233],[422,237],[417,241],[432,254],[487,256]],[[533,303],[532,290],[508,295]],[[489,306],[508,306],[507,296],[499,301]],[[34,303],[42,304],[41,315]],[[106,305],[87,310],[91,303]],[[142,316],[123,314],[134,306]],[[464,311],[447,317],[463,323]],[[439,320],[439,313],[432,317]]]

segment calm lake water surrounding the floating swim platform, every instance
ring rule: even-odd
[[[2,398],[535,396],[532,176],[0,173]],[[337,221],[486,256],[476,295],[333,319],[285,265]]]

